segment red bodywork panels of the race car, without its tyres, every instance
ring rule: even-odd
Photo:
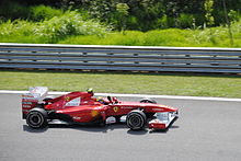
[[[42,106],[49,113],[49,116],[68,116],[73,123],[92,123],[94,120],[106,120],[110,116],[127,115],[133,110],[141,110],[145,114],[176,113],[177,108],[153,103],[122,102],[114,99],[103,97],[103,102],[96,101],[93,94],[88,92],[71,92],[51,100],[42,101]],[[35,107],[39,102],[31,96],[22,99],[23,116]],[[51,119],[51,118],[50,118]],[[161,123],[149,124],[149,128],[167,128]]]

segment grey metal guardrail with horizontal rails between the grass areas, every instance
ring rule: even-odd
[[[0,68],[241,73],[241,49],[2,43]]]

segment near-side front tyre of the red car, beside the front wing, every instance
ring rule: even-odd
[[[127,126],[133,130],[142,129],[147,123],[147,116],[139,110],[134,110],[127,114]]]

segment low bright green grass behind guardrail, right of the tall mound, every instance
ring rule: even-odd
[[[232,26],[233,42],[230,44],[227,27],[206,30],[156,30],[149,32],[125,31],[111,32],[100,37],[96,35],[74,35],[61,39],[58,44],[80,45],[127,45],[127,46],[173,46],[173,47],[241,47],[241,21]]]

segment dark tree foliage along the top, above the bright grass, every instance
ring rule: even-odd
[[[18,19],[18,15],[21,19],[31,19],[26,9],[8,5],[10,1],[24,7],[44,4],[64,11],[77,10],[119,31],[124,26],[126,30],[149,31],[193,28],[204,26],[205,23],[218,26],[226,23],[221,0],[1,0],[0,19]],[[230,20],[239,20],[241,0],[226,0],[226,3]]]

